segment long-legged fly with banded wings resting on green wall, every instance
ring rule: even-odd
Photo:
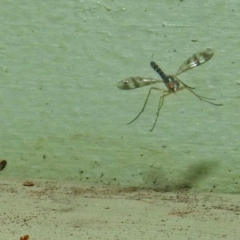
[[[161,76],[162,80],[159,80],[159,79],[157,80],[157,79],[153,79],[153,78],[144,78],[144,77],[130,77],[130,78],[127,78],[125,80],[119,81],[117,83],[117,87],[120,88],[120,89],[123,89],[123,90],[131,90],[131,89],[140,88],[140,87],[144,87],[144,86],[147,86],[147,85],[150,85],[150,84],[155,84],[155,83],[160,83],[160,82],[163,82],[165,84],[165,86],[167,87],[167,90],[162,90],[162,89],[157,88],[157,87],[151,87],[149,89],[147,98],[146,98],[146,100],[143,104],[142,110],[139,112],[139,114],[131,122],[129,122],[127,124],[130,124],[130,123],[134,122],[143,113],[152,90],[163,91],[163,93],[160,96],[156,118],[155,118],[155,121],[153,123],[152,128],[150,129],[150,132],[154,129],[154,127],[157,123],[159,112],[160,112],[160,110],[163,106],[164,98],[166,96],[168,96],[169,94],[176,93],[177,91],[180,91],[182,89],[186,88],[192,94],[194,94],[197,98],[199,98],[200,100],[202,100],[204,102],[210,103],[210,104],[215,105],[215,106],[222,106],[223,104],[221,104],[221,103],[214,103],[214,102],[209,101],[209,100],[215,100],[213,98],[207,98],[207,97],[203,97],[203,96],[198,95],[197,93],[195,93],[193,91],[193,89],[195,89],[195,88],[188,86],[187,84],[182,82],[177,77],[181,73],[186,72],[186,71],[188,71],[188,70],[190,70],[194,67],[198,67],[201,64],[207,62],[208,60],[210,60],[212,58],[213,54],[214,54],[214,52],[210,48],[207,48],[204,51],[193,54],[190,58],[188,58],[179,67],[179,69],[178,69],[178,71],[175,75],[166,75],[155,62],[150,62],[151,67]],[[180,84],[182,86],[180,86]]]

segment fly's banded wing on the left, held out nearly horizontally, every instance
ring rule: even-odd
[[[153,79],[153,78],[130,77],[118,82],[117,87],[123,90],[130,90],[130,89],[135,89],[139,87],[144,87],[150,84],[155,84],[158,82],[162,82],[162,81],[158,79]]]

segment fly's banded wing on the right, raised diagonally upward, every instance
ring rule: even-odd
[[[210,60],[213,56],[214,52],[211,48],[207,48],[204,51],[193,54],[190,58],[188,58],[178,69],[176,75],[179,75],[187,70],[197,67],[208,60]]]

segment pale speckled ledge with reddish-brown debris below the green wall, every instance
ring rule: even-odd
[[[1,180],[0,239],[238,240],[236,195]]]

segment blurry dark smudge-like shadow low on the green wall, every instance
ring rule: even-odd
[[[144,185],[146,188],[159,192],[189,190],[211,176],[217,167],[216,162],[201,162],[189,166],[181,176],[176,176],[174,173],[173,178],[171,178],[171,173],[168,173],[168,177],[166,177],[162,168],[152,166],[148,172],[143,174],[145,176]],[[215,188],[215,186],[212,187]]]

